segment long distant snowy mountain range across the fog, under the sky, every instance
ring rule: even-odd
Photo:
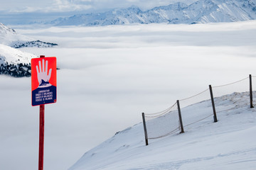
[[[218,23],[256,19],[255,0],[200,0],[187,5],[181,2],[142,11],[137,6],[104,13],[87,13],[58,18],[56,26],[107,26],[130,23]]]

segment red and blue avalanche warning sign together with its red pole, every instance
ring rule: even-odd
[[[40,106],[38,170],[43,170],[45,104],[57,99],[56,70],[56,57],[41,55],[31,60],[32,106]]]

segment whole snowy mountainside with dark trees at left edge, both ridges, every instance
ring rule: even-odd
[[[0,23],[0,74],[13,77],[31,76],[31,55],[15,48],[21,47],[53,47],[57,44],[42,42],[16,33],[14,29]],[[10,47],[11,46],[11,47]]]

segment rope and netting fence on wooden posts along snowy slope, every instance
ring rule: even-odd
[[[227,101],[243,102],[252,108],[252,95],[256,95],[256,91],[252,93],[252,89],[256,89],[256,76],[249,75],[249,77],[230,84],[209,85],[208,89],[178,100],[164,111],[142,113],[146,145],[148,145],[149,139],[153,140],[184,132],[202,120],[217,122],[216,113],[227,113],[234,107],[238,107],[238,105],[227,107]]]

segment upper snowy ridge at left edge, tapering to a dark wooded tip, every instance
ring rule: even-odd
[[[8,28],[0,23],[0,44],[9,45],[11,47],[53,47],[57,44],[50,42],[42,42],[26,35],[16,33],[14,29]]]

